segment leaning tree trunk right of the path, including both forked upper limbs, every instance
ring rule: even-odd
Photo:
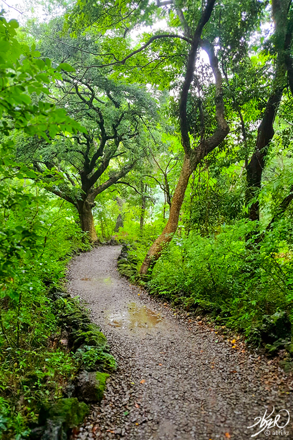
[[[218,59],[215,55],[213,45],[208,41],[201,39],[203,27],[209,21],[214,3],[215,0],[207,1],[206,7],[194,32],[188,53],[186,74],[179,104],[181,142],[185,152],[183,167],[171,201],[169,219],[162,234],[157,238],[146,254],[146,258],[140,268],[140,274],[142,275],[146,275],[147,270],[155,264],[156,260],[160,257],[164,246],[172,240],[172,236],[177,230],[180,209],[191,173],[195,170],[198,163],[220,145],[229,133],[229,126],[224,115],[222,75],[219,69]],[[217,128],[208,138],[205,138],[204,133],[201,133],[199,145],[196,148],[192,148],[188,130],[187,104],[189,88],[194,77],[196,53],[199,44],[201,44],[209,56],[209,64],[215,77],[215,118],[217,121]]]

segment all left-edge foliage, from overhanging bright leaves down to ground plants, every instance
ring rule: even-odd
[[[46,192],[37,174],[15,160],[14,137],[85,132],[65,110],[42,102],[61,68],[40,60],[16,37],[18,23],[0,17],[0,435],[27,438],[40,406],[60,398],[85,359],[60,342],[66,314],[78,304],[53,301],[73,252],[88,249],[70,205]],[[70,68],[70,66],[68,66]],[[32,99],[30,98],[32,95]],[[34,103],[32,103],[34,101]],[[13,133],[13,134],[12,134]],[[53,295],[53,296],[52,296]],[[56,299],[56,298],[55,298]],[[102,369],[115,361],[94,352]],[[84,352],[84,356],[86,355]]]

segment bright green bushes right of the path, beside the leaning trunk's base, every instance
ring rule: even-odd
[[[264,315],[292,313],[292,228],[275,224],[258,246],[245,240],[252,227],[242,220],[209,237],[175,236],[155,265],[150,291],[251,336]]]

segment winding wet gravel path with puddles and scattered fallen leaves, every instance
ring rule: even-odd
[[[120,251],[97,247],[69,267],[71,295],[88,303],[119,364],[76,438],[248,440],[258,430],[247,427],[274,406],[274,416],[292,410],[280,438],[293,439],[292,388],[284,393],[281,370],[130,286],[117,272]],[[276,438],[273,430],[255,438]]]

